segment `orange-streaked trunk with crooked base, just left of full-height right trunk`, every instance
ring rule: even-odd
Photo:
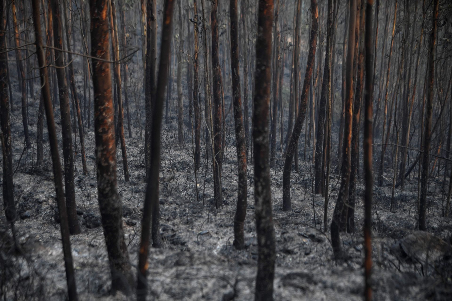
[[[333,218],[331,221],[331,245],[333,246],[334,256],[339,259],[342,248],[340,245],[339,231],[344,230],[345,218],[347,213],[346,203],[348,202],[348,184],[350,181],[350,148],[352,140],[352,107],[353,107],[353,57],[355,49],[354,32],[356,26],[356,2],[350,0],[350,14],[348,20],[348,45],[347,61],[345,65],[345,116],[344,116],[344,141],[342,143],[342,170],[341,185],[339,195],[334,207]]]

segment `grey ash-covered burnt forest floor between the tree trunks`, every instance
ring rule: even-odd
[[[29,111],[30,120],[36,120],[33,110]],[[56,109],[57,121],[58,113],[59,109]],[[176,145],[177,121],[175,118],[170,121],[170,124],[163,125],[160,168],[160,231],[164,247],[150,249],[149,300],[253,300],[257,259],[253,165],[248,166],[248,209],[245,221],[248,248],[237,251],[232,246],[237,197],[237,160],[233,132],[228,133],[228,148],[223,162],[224,204],[222,208],[215,209],[212,205],[211,163],[209,162],[209,170],[206,172],[205,157],[202,157],[201,169],[197,175],[200,195],[197,200],[191,136],[185,133],[187,144]],[[19,110],[12,114],[11,123],[14,195],[20,215],[14,225],[24,255],[7,253],[12,233],[4,213],[1,213],[0,279],[3,284],[0,285],[0,295],[5,294],[5,300],[64,300],[65,269],[59,224],[53,218],[56,201],[47,130],[44,131],[45,163],[43,167],[36,168],[35,144],[30,150],[23,151]],[[61,135],[58,123],[57,133]],[[33,141],[36,137],[35,129],[36,125],[30,124]],[[146,191],[144,136],[142,138],[138,134],[137,137],[126,139],[129,182],[124,181],[121,149],[117,150],[118,192],[123,201],[124,231],[134,273],[138,261]],[[302,135],[301,142],[303,139]],[[334,141],[333,143],[335,144]],[[92,129],[85,128],[85,147],[89,171],[87,176],[82,175],[80,153],[75,157],[75,196],[82,224],[82,233],[71,236],[77,291],[80,300],[127,300],[120,293],[109,295],[108,256],[103,230],[99,227]],[[280,153],[278,156],[281,158]],[[312,164],[303,161],[300,156],[301,170],[299,173],[292,172],[291,212],[282,211],[282,164],[279,160],[277,167],[271,169],[277,249],[275,300],[362,300],[362,179],[358,180],[356,191],[357,229],[352,234],[342,235],[344,250],[350,257],[345,262],[336,263],[330,244],[329,226],[326,232],[323,229],[324,198],[312,194]],[[334,169],[333,164],[332,170]],[[416,229],[418,181],[416,177],[409,178],[404,191],[395,190],[395,209],[391,212],[392,171],[387,176],[390,179],[385,180],[384,187],[375,188],[372,210],[372,287],[375,300],[450,300],[450,273],[442,278],[444,275],[438,274],[434,269],[421,270],[420,264],[404,263],[391,253],[392,245]],[[434,178],[434,185],[430,185],[430,197],[437,201],[429,202],[427,220],[429,232],[447,239],[452,227],[450,218],[441,217],[438,205],[441,202],[444,204],[441,180],[442,176],[439,180]],[[334,172],[331,173],[330,183],[328,223],[339,189],[338,176]],[[14,299],[14,294],[17,294],[17,299]]]

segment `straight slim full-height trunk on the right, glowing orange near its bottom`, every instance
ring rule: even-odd
[[[378,1],[378,0],[377,0]],[[364,86],[364,298],[372,300],[371,272],[372,272],[372,125],[373,125],[373,87],[374,87],[374,47],[372,45],[372,5],[373,0],[367,0],[366,5],[366,83]],[[377,11],[378,16],[378,11]],[[376,20],[378,22],[378,20]]]

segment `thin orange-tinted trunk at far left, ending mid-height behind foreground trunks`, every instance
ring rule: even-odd
[[[16,5],[14,3],[14,0],[11,1],[11,11],[13,13],[13,26],[14,26],[14,42],[16,43],[16,60],[17,60],[17,66],[20,73],[20,80],[22,83],[21,92],[22,92],[22,124],[24,125],[24,137],[25,137],[25,146],[26,148],[30,148],[31,146],[31,138],[28,134],[28,116],[27,116],[27,84],[26,84],[26,78],[25,78],[25,69],[22,59],[22,53],[19,49],[20,47],[20,33],[19,33],[19,26],[17,24],[17,13],[16,13]]]

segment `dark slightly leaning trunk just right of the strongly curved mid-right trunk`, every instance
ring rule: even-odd
[[[330,79],[331,79],[331,41],[332,41],[332,25],[333,25],[333,3],[328,0],[328,17],[326,29],[326,48],[325,48],[325,67],[323,69],[322,91],[320,93],[319,117],[317,120],[317,140],[315,143],[315,193],[323,194],[322,185],[322,161],[324,149],[324,133],[325,133],[325,106],[330,100]]]

